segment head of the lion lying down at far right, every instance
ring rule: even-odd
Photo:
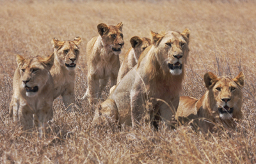
[[[236,78],[218,78],[211,72],[204,75],[205,86],[209,90],[209,101],[211,109],[217,112],[221,120],[242,117],[242,88],[244,86],[244,74],[242,72]]]

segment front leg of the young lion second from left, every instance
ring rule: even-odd
[[[72,107],[75,103],[74,83],[70,84],[70,87],[61,94],[63,103],[67,108],[67,112],[72,112]]]

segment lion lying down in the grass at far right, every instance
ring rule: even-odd
[[[231,79],[216,77],[208,72],[204,75],[204,82],[208,90],[200,100],[189,96],[180,97],[176,119],[180,122],[195,119],[193,126],[200,128],[203,133],[212,132],[216,123],[234,128],[234,119],[241,119],[243,116],[241,108],[244,74],[240,72],[236,78]]]

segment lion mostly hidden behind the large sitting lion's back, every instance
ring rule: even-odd
[[[117,84],[138,63],[141,52],[151,45],[150,39],[138,36],[133,36],[130,42],[132,47],[125,54],[124,61],[118,71]]]

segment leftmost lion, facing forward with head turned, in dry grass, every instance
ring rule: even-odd
[[[25,59],[16,57],[18,68],[13,76],[13,95],[10,103],[10,116],[20,123],[24,130],[45,127],[52,119],[53,79],[50,69],[54,55]]]

